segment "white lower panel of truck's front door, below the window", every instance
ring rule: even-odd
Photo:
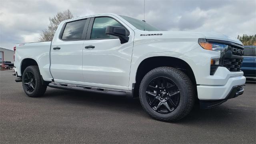
[[[133,37],[130,35],[129,42],[122,45],[118,38],[85,40],[84,47],[93,45],[97,49],[83,49],[84,82],[128,87]]]

